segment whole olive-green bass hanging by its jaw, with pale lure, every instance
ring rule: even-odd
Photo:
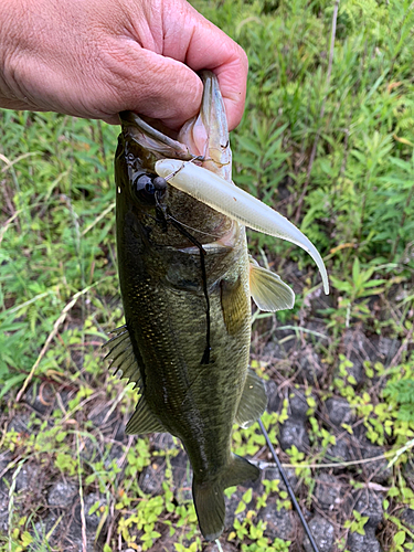
[[[276,311],[291,308],[295,295],[248,254],[245,225],[262,229],[268,211],[257,216],[264,204],[232,183],[217,78],[201,77],[200,114],[177,138],[131,112],[119,115],[116,240],[125,325],[114,330],[106,358],[138,391],[126,432],[168,432],[181,440],[199,527],[213,541],[224,530],[224,490],[259,477],[231,447],[233,424],[248,427],[267,404],[264,382],[248,367],[251,297]],[[319,255],[270,211],[272,232]],[[317,263],[325,269],[320,256]]]

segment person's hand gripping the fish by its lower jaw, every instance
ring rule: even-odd
[[[2,0],[0,107],[110,124],[129,109],[178,128],[199,112],[203,68],[232,129],[246,55],[184,0]]]

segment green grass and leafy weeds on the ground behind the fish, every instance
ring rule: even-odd
[[[328,375],[317,390],[318,401],[322,404],[332,394],[347,397],[371,442],[386,447],[392,458],[414,437],[411,2],[193,4],[240,42],[250,59],[246,112],[231,137],[235,182],[296,221],[327,263],[332,302],[317,316],[329,336],[318,346]],[[126,420],[135,402],[134,392],[107,373],[99,349],[123,320],[112,166],[117,132],[56,114],[0,112],[0,405],[6,421],[21,413],[15,397],[28,379],[35,395],[45,396],[47,390],[70,395],[65,407],[56,407],[46,421],[32,413],[28,434],[9,428],[0,447],[10,450],[15,468],[38,463],[50,480],[64,474],[81,481],[81,488],[99,491],[105,505],[96,505],[103,520],[97,533],[112,528],[105,552],[118,539],[149,549],[159,539],[159,521],[177,551],[197,551],[201,541],[193,506],[176,505],[169,495],[169,466],[178,449],[162,456],[162,492],[145,496],[137,475],[153,461],[150,440],[134,440],[121,467],[105,466],[110,437],[85,414],[102,403]],[[320,289],[320,277],[310,257],[289,244],[252,233],[250,246],[286,282],[291,263],[300,270],[293,314],[257,317],[259,350],[276,323],[301,326],[309,319],[307,305]],[[349,329],[401,343],[389,368],[365,363],[361,384],[349,375],[342,354],[341,339]],[[315,344],[311,333],[305,337]],[[275,367],[262,364],[259,357],[255,362],[274,376]],[[284,367],[279,373],[293,375]],[[375,386],[379,380],[383,385]],[[272,415],[272,423],[284,415]],[[317,413],[312,417],[315,455],[302,458],[291,450],[294,463],[311,464],[335,438]],[[270,427],[276,440],[277,427]],[[240,454],[254,455],[263,445],[257,428],[235,434]],[[104,453],[86,458],[86,446]],[[413,537],[397,514],[414,508],[403,469],[408,456],[405,450],[396,458],[385,499],[382,539],[399,552],[411,550]],[[310,487],[310,469],[299,473],[305,488]],[[248,505],[246,511],[255,508]],[[0,550],[50,550],[46,535],[33,532],[44,514],[42,507],[29,511],[17,496]],[[347,523],[344,530],[363,530],[358,517]],[[288,549],[282,541],[265,542],[263,530],[254,516],[246,517],[231,533],[232,543],[242,551]]]

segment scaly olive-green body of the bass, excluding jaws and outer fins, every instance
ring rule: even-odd
[[[171,213],[180,200],[193,203],[191,216],[179,211],[177,217],[191,225],[197,212],[198,230],[205,233],[197,233],[204,242],[211,318],[210,362],[202,364],[206,302],[200,252],[173,227],[162,231],[153,223],[155,209],[142,210],[129,182],[118,177],[128,173],[128,161],[118,156],[116,162],[119,279],[142,394],[162,427],[182,440],[194,477],[209,480],[220,476],[231,459],[232,425],[247,375],[251,305],[245,232],[182,192],[168,190],[170,197],[177,195],[167,200]]]

